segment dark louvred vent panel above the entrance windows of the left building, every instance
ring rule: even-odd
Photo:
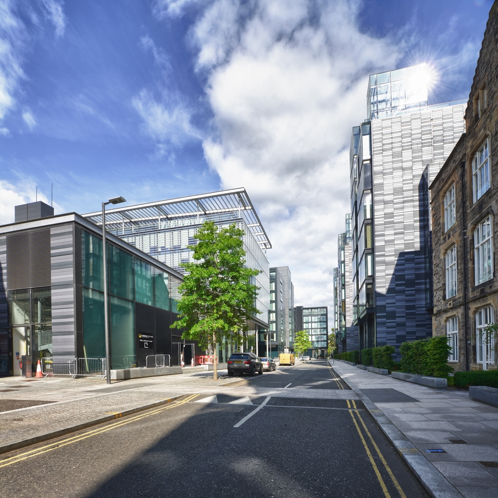
[[[50,285],[50,229],[38,228],[6,236],[7,289]]]

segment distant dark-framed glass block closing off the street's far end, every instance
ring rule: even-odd
[[[296,331],[308,333],[311,348],[308,356],[325,358],[328,348],[328,309],[327,306],[308,308],[296,306]]]

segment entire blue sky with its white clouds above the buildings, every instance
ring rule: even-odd
[[[328,304],[368,75],[468,98],[491,0],[0,0],[0,223],[244,186],[298,304]],[[318,302],[319,301],[319,302]]]

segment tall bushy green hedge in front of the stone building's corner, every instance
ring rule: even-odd
[[[406,373],[448,377],[453,367],[447,365],[451,348],[446,336],[406,342],[401,344],[401,370]]]

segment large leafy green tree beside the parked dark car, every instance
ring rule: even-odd
[[[218,379],[217,345],[224,340],[241,343],[247,333],[247,319],[259,313],[254,306],[258,270],[246,266],[244,230],[234,225],[218,229],[205,222],[197,231],[198,243],[188,246],[194,262],[178,287],[180,315],[171,328],[184,329],[182,338],[194,339],[201,347],[214,349],[213,378]]]

